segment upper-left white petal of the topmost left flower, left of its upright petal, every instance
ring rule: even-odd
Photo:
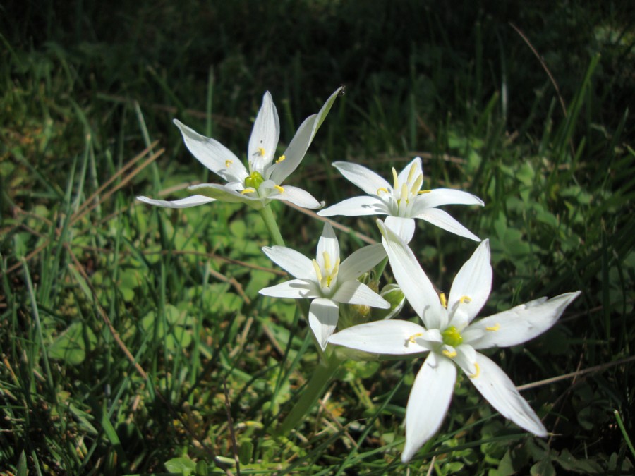
[[[174,124],[181,130],[183,142],[188,150],[207,169],[217,173],[228,182],[243,182],[247,178],[247,170],[234,152],[217,140],[200,135],[177,119],[174,119]]]

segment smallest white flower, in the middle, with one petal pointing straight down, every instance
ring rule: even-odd
[[[339,243],[325,223],[315,260],[284,246],[265,246],[265,254],[295,279],[264,288],[260,294],[274,298],[311,299],[309,326],[324,350],[339,317],[339,303],[364,304],[388,309],[390,304],[357,278],[386,256],[381,243],[365,246],[339,262]]]

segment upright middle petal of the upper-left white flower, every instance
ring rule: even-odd
[[[278,111],[271,99],[271,94],[267,91],[262,97],[262,106],[253,123],[249,138],[248,159],[252,171],[264,174],[276,153],[279,138]]]

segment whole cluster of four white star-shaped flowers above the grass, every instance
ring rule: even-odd
[[[298,167],[340,90],[335,91],[317,114],[306,118],[284,154],[275,158],[279,139],[279,119],[267,92],[253,126],[248,145],[248,168],[222,144],[206,138],[179,121],[186,147],[225,185],[194,185],[195,193],[182,200],[165,201],[138,197],[159,207],[193,207],[214,200],[243,202],[255,209],[271,200],[286,200],[301,207],[317,209],[318,202],[305,190],[282,185]],[[456,235],[480,241],[471,231],[437,207],[441,205],[484,205],[470,193],[449,188],[421,190],[423,169],[416,157],[404,170],[392,169],[392,185],[373,171],[349,162],[334,162],[341,174],[367,195],[344,200],[322,209],[320,216],[387,215],[377,219],[382,243],[366,246],[341,261],[339,243],[330,224],[325,224],[317,243],[315,259],[285,246],[265,247],[270,259],[294,279],[260,290],[277,298],[310,300],[308,324],[324,350],[328,343],[368,353],[417,355],[428,353],[411,389],[406,406],[406,444],[401,460],[409,461],[418,448],[440,428],[454,392],[456,368],[461,369],[476,389],[504,417],[528,432],[548,434],[540,418],[520,395],[514,383],[490,358],[478,350],[524,343],[542,334],[557,322],[564,309],[580,291],[555,298],[541,298],[512,307],[490,317],[476,319],[492,286],[490,246],[483,240],[461,267],[449,295],[437,293],[409,243],[416,230],[414,219],[422,219]],[[421,324],[407,320],[383,319],[353,325],[339,332],[341,304],[393,308],[359,281],[361,275],[388,258],[394,280],[413,307]],[[392,288],[391,288],[392,289]],[[382,293],[384,294],[384,293]]]

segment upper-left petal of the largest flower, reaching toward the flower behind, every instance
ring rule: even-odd
[[[392,274],[401,291],[404,291],[406,299],[423,319],[427,329],[441,329],[441,324],[447,324],[447,312],[412,250],[381,220],[377,220],[377,226],[382,232],[382,243],[388,254]]]

